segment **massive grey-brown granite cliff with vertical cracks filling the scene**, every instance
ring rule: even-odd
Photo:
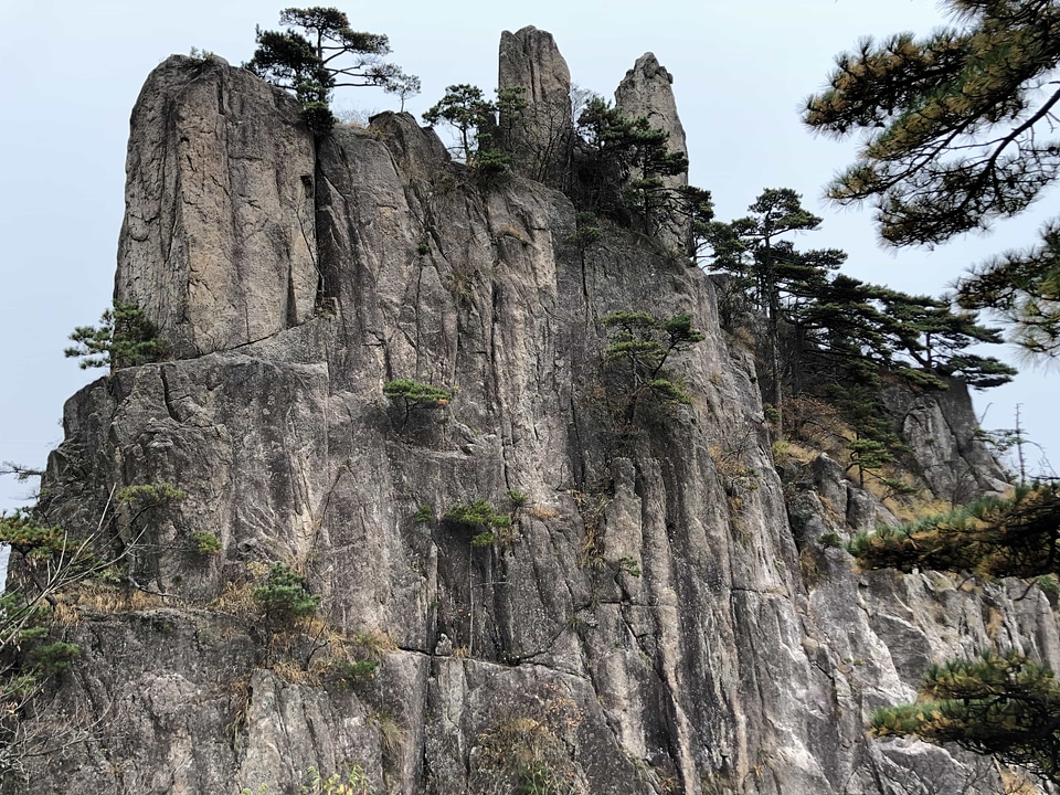
[[[501,52],[554,125],[551,36]],[[679,127],[654,57],[621,94]],[[541,153],[564,125],[526,140]],[[82,656],[34,725],[72,742],[29,761],[25,792],[296,793],[309,767],[407,795],[993,791],[983,760],[865,721],[978,646],[1060,664],[1046,596],[858,572],[822,544],[884,510],[827,457],[782,483],[710,280],[618,227],[580,243],[549,151],[540,180],[483,186],[411,116],[315,141],[223,62],[151,74],[115,295],[173,358],[67,403],[42,508],[103,517],[129,582],[61,605],[52,632]],[[691,404],[633,430],[603,362],[622,310],[706,335],[674,363]],[[404,405],[396,379],[452,400]],[[996,485],[960,410],[902,409],[930,425],[940,490],[943,469]],[[183,498],[110,500],[158,483]],[[510,521],[494,539],[452,518],[477,500]],[[316,618],[264,622],[274,562]]]

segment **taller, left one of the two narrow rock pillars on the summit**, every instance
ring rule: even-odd
[[[548,31],[500,34],[497,86],[522,88],[526,107],[501,110],[502,147],[517,173],[563,189],[572,135],[571,71]]]

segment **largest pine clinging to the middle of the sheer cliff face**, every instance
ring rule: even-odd
[[[676,353],[704,339],[702,331],[692,328],[690,315],[660,320],[648,312],[618,311],[600,322],[611,335],[604,360],[616,377],[615,389],[621,392],[617,414],[623,427],[633,424],[642,401],[650,399],[664,405],[692,402],[683,384],[666,367]]]

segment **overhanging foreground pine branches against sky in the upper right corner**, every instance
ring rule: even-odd
[[[828,188],[871,200],[880,236],[933,245],[1030,205],[1060,174],[1060,3],[946,0],[956,24],[918,40],[863,40],[837,59],[804,121],[844,138],[856,162]],[[996,311],[1035,353],[1060,353],[1060,229],[990,259],[958,284],[965,308]]]

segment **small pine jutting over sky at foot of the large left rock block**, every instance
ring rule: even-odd
[[[109,367],[113,370],[161,361],[168,346],[158,329],[136,304],[115,304],[104,310],[98,326],[78,326],[70,335],[75,343],[63,353],[80,358],[81,369]]]

